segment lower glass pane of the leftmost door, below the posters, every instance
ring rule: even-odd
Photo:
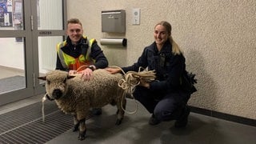
[[[26,88],[24,43],[0,38],[0,54],[0,94]]]

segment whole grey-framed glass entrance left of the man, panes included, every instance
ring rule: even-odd
[[[0,106],[44,93],[65,22],[66,0],[0,0]]]

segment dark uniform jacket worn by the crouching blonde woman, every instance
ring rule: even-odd
[[[132,66],[122,67],[127,71],[138,71],[139,67],[148,67],[148,70],[155,70],[156,81],[150,83],[150,90],[175,92],[181,90],[180,78],[186,70],[185,58],[182,54],[173,54],[172,46],[166,41],[162,50],[158,52],[156,43],[146,46],[138,62]]]

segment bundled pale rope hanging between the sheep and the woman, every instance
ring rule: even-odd
[[[135,100],[135,98],[133,96],[134,88],[135,88],[135,86],[138,86],[141,81],[144,81],[144,82],[154,81],[154,78],[156,78],[154,70],[147,71],[144,68],[139,67],[138,72],[128,71],[127,73],[125,73],[121,67],[118,67],[118,66],[110,66],[110,67],[118,68],[125,75],[125,78],[122,78],[118,82],[118,86],[121,87],[122,90],[124,90],[124,92],[122,94],[122,100],[126,96],[126,94],[130,94],[132,99],[136,103],[136,108],[134,111],[127,111],[123,108],[122,101],[121,101],[122,110],[124,110],[128,114],[136,113],[138,110],[138,102]]]

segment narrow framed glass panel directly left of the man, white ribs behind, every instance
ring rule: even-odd
[[[44,82],[38,80],[38,76],[45,75],[46,72],[55,69],[58,42],[62,42],[65,37],[66,24],[66,1],[63,0],[38,0],[32,3],[37,9],[37,19],[34,19],[33,46],[34,50],[34,77],[35,94],[42,94],[45,87]]]

